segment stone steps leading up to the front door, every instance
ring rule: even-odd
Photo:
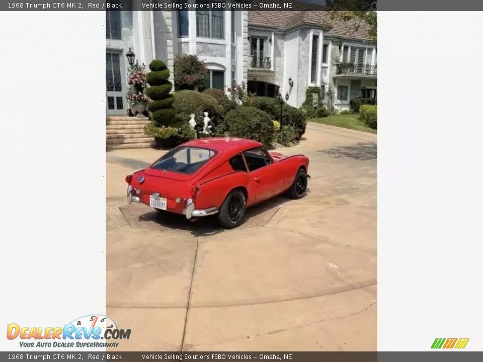
[[[154,138],[144,134],[147,124],[145,117],[107,116],[106,149],[153,147]]]

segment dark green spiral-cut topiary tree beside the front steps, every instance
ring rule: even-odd
[[[156,127],[176,126],[175,98],[170,94],[173,83],[168,80],[170,70],[165,62],[157,59],[149,64],[149,69],[151,72],[147,73],[146,80],[150,87],[146,89],[146,94],[152,100],[147,105],[147,110],[152,113],[151,119]]]

